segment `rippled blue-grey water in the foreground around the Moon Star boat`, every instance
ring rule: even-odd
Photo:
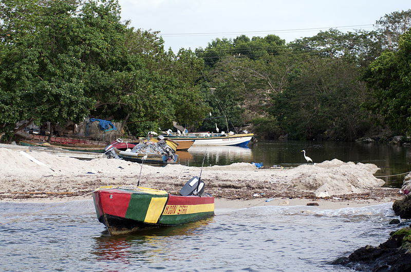
[[[3,202],[0,270],[340,271],[346,268],[328,262],[377,246],[409,225],[388,224],[397,218],[391,205],[217,208],[207,220],[110,237],[91,200],[58,206]]]

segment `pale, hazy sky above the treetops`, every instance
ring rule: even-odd
[[[385,14],[411,9],[409,0],[119,0],[122,20],[160,31],[164,48],[206,48],[216,38],[275,34],[286,43],[330,28],[372,30]]]

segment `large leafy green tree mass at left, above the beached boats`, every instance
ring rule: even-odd
[[[9,136],[20,120],[64,125],[91,115],[139,134],[139,123],[158,129],[208,111],[195,87],[202,60],[128,28],[117,0],[6,0],[0,15],[0,130]]]

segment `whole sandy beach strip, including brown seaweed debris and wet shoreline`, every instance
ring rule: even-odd
[[[25,152],[27,155],[22,154]],[[79,160],[46,152],[0,148],[0,201],[66,202],[91,199],[100,186],[136,185],[178,194],[201,168],[163,167],[118,159]],[[31,158],[38,160],[34,162]],[[399,189],[382,187],[374,164],[338,159],[296,168],[257,169],[250,163],[204,167],[201,179],[215,208],[315,205],[321,209],[361,207],[401,199]],[[141,174],[140,174],[141,171]],[[266,200],[271,199],[267,202]],[[222,210],[221,210],[222,209]]]

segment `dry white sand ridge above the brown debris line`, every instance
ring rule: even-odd
[[[108,183],[137,183],[141,164],[118,159],[78,160],[45,152],[27,152],[45,163],[39,165],[20,151],[0,148],[0,192],[95,189]],[[200,168],[179,164],[164,167],[143,165],[141,181],[145,186],[181,183],[200,174]],[[382,186],[384,181],[373,176],[374,164],[342,162],[338,159],[316,164],[303,164],[290,169],[256,169],[250,163],[233,163],[202,169],[201,178],[213,186],[238,188],[264,186],[273,190],[314,192],[317,197],[366,193]],[[80,191],[81,191],[80,190]]]

